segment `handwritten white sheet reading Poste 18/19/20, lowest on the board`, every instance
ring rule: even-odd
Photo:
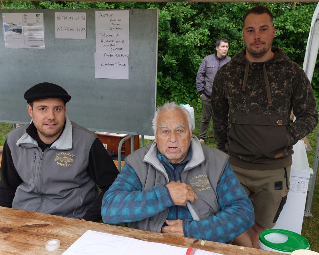
[[[120,53],[94,53],[95,78],[129,79],[129,56]]]

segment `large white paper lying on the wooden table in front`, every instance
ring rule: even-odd
[[[87,230],[62,254],[185,255],[186,251],[187,248],[146,242],[130,237],[121,237],[107,233]],[[221,254],[196,250],[195,255]]]

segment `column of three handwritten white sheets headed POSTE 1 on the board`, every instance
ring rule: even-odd
[[[95,11],[95,78],[129,79],[129,11]]]

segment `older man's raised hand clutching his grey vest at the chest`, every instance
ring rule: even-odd
[[[185,206],[187,201],[193,203],[197,199],[197,195],[186,183],[171,181],[166,187],[175,205]]]

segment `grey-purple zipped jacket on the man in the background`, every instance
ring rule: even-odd
[[[219,58],[216,53],[204,57],[196,76],[196,87],[200,95],[205,94],[208,98],[211,97],[211,87],[215,74],[218,69],[225,65],[229,60],[230,57],[225,56]]]

